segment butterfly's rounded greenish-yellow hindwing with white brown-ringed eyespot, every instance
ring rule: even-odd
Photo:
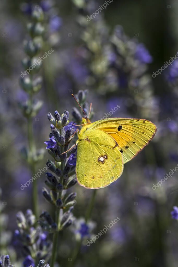
[[[122,153],[108,133],[88,129],[78,140],[76,174],[79,184],[89,189],[108,186],[121,176]]]

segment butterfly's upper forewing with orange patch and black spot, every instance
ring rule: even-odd
[[[95,121],[90,127],[100,129],[116,140],[121,147],[123,163],[135,157],[156,133],[155,124],[143,119],[109,118]]]

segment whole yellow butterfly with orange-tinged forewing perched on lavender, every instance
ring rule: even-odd
[[[78,134],[76,175],[78,183],[98,189],[116,181],[124,163],[135,157],[156,133],[156,126],[144,119],[109,118],[84,126]]]

